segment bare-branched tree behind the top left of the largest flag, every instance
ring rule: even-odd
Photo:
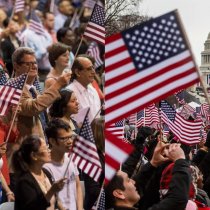
[[[106,0],[106,36],[130,28],[149,19],[138,12],[142,0]]]

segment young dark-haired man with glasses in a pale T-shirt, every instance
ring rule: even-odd
[[[50,149],[51,163],[46,163],[47,169],[54,180],[67,178],[64,188],[58,193],[58,197],[66,210],[82,210],[83,195],[76,165],[70,161],[73,147],[74,133],[69,124],[61,119],[53,119],[45,130]],[[70,162],[69,162],[70,161]]]

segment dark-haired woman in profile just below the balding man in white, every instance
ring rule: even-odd
[[[71,115],[77,114],[79,110],[77,97],[73,91],[67,89],[62,89],[60,95],[61,98],[56,100],[50,107],[50,117],[61,118],[70,125],[72,131],[78,134],[79,127],[76,121],[71,118]]]

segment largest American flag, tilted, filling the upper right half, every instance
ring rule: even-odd
[[[176,11],[108,37],[105,66],[106,123],[199,79]]]

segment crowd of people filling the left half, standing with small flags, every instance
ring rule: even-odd
[[[88,53],[94,41],[83,37],[93,8],[70,0],[25,0],[19,12],[14,5],[0,1],[1,75],[27,77],[18,105],[0,116],[1,203],[15,202],[16,210],[90,210],[103,186],[105,158],[104,65],[95,65]],[[103,61],[104,46],[94,45]],[[86,108],[102,166],[98,181],[71,159]]]

